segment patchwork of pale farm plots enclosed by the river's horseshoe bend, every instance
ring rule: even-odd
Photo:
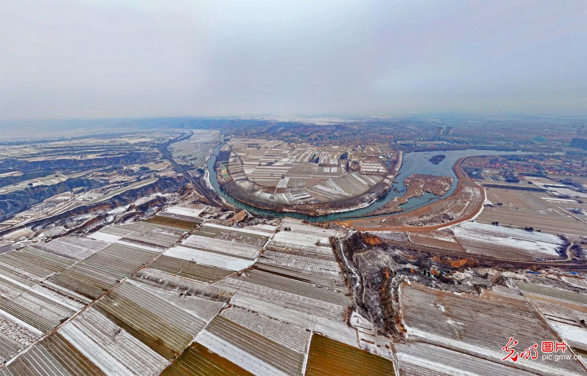
[[[365,175],[346,170],[344,147],[292,145],[282,141],[233,138],[228,175],[258,198],[285,205],[356,197],[375,187],[387,171]]]

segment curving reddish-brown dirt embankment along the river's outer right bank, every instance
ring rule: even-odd
[[[458,183],[444,199],[399,215],[369,217],[336,222],[359,231],[429,231],[468,221],[483,208],[485,190],[461,170],[464,158],[454,166]]]

